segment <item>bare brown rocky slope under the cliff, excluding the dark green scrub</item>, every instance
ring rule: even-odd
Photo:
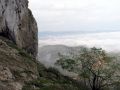
[[[35,60],[10,40],[0,37],[0,90],[20,90],[38,77]]]

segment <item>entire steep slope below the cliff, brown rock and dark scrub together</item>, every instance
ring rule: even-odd
[[[0,90],[78,90],[78,85],[0,37]]]

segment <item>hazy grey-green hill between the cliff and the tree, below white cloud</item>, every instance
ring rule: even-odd
[[[70,53],[78,53],[83,46],[69,47],[65,45],[47,45],[39,48],[38,59],[47,67],[54,66],[59,59],[58,53],[69,55]]]

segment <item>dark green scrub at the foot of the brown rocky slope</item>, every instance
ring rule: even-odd
[[[26,82],[23,90],[81,90],[80,88],[83,88],[77,81],[63,76],[58,70],[46,69],[40,63],[37,65],[39,77],[31,82]]]

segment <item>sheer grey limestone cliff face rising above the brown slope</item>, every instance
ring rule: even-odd
[[[36,56],[37,31],[28,0],[0,0],[0,35]]]

